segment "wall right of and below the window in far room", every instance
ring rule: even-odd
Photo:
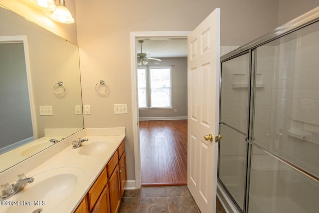
[[[140,118],[187,117],[187,58],[160,59],[161,65],[175,65],[171,67],[172,108],[140,109]]]

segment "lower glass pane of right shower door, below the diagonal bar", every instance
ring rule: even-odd
[[[319,182],[253,146],[249,213],[318,213]]]

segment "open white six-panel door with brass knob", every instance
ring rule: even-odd
[[[187,37],[187,186],[202,213],[216,211],[220,9]],[[212,140],[204,136],[212,135]]]

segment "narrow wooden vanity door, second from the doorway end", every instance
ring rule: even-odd
[[[111,213],[117,213],[121,203],[119,165],[116,165],[112,175],[109,178],[109,192]]]

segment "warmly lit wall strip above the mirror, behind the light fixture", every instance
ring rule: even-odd
[[[77,44],[75,0],[66,0],[66,6],[75,19],[75,23],[72,24],[54,21],[50,17],[52,11],[37,9],[28,4],[26,0],[0,0],[0,4],[60,37]]]

